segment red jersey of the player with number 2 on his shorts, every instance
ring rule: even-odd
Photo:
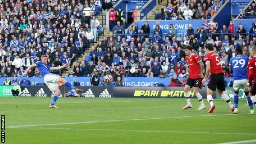
[[[201,61],[201,58],[196,54],[192,54],[190,57],[186,56],[186,61],[189,66],[189,78],[200,78],[201,69],[199,62]]]

